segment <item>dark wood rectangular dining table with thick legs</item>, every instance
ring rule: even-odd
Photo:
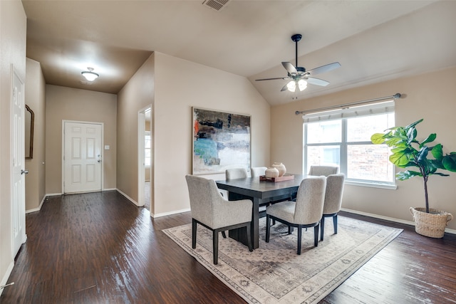
[[[250,231],[254,249],[259,246],[259,206],[270,201],[293,197],[298,192],[299,184],[306,177],[306,175],[301,174],[291,175],[294,175],[294,179],[282,182],[260,181],[259,177],[216,181],[219,189],[227,190],[230,201],[239,199],[251,199],[253,201]],[[245,228],[230,230],[229,237],[247,245],[247,230]]]

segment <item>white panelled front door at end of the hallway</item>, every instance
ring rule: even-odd
[[[63,193],[101,191],[102,125],[64,122]]]

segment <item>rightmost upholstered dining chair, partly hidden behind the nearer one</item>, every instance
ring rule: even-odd
[[[341,211],[343,182],[345,182],[343,173],[331,174],[326,177],[325,204],[323,205],[323,216],[320,221],[320,241],[323,241],[325,233],[325,217],[333,218],[334,234],[337,234],[337,214],[338,211]]]

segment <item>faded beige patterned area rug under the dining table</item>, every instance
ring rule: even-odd
[[[212,231],[197,228],[197,248],[192,249],[192,225],[163,230],[167,236],[238,293],[247,303],[317,303],[398,236],[402,229],[338,216],[338,234],[332,221],[325,223],[323,241],[314,247],[314,229],[303,231],[301,256],[296,235],[287,227],[271,227],[264,241],[266,219],[259,221],[259,248],[219,236],[219,262],[212,263]]]

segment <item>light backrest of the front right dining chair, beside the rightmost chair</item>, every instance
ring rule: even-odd
[[[307,177],[299,184],[294,209],[295,224],[313,224],[323,216],[326,177]]]

